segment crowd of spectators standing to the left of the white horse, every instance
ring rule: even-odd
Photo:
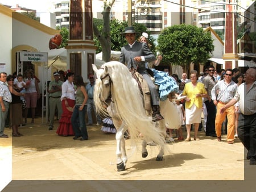
[[[34,76],[31,69],[22,74],[7,76],[1,72],[0,103],[1,103],[1,131],[0,137],[8,138],[4,133],[7,126],[12,128],[12,136],[23,136],[18,128],[28,123],[28,112],[31,112],[31,124],[35,123],[36,107],[40,98],[39,79]],[[94,76],[89,74],[90,83],[85,87],[81,76],[75,76],[73,72],[65,74],[62,70],[53,72],[53,80],[48,85],[49,97],[49,128],[54,128],[55,116],[59,120],[56,133],[60,136],[74,136],[73,139],[88,140],[85,115],[88,115],[87,126],[93,125],[92,110],[96,114],[93,102]],[[89,106],[89,107],[88,107]],[[97,126],[104,125],[101,117],[97,115]],[[24,118],[24,120],[23,120]],[[109,118],[109,117],[108,117]],[[106,125],[105,125],[106,126]],[[115,133],[114,126],[104,132]]]

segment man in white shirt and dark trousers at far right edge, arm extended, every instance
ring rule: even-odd
[[[238,138],[248,150],[246,158],[250,160],[250,165],[256,165],[256,69],[247,69],[243,80],[245,83],[238,87],[235,97],[220,112],[224,113],[239,101]]]

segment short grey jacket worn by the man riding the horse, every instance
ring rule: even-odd
[[[144,56],[145,61],[139,62],[138,70],[143,70],[145,68],[145,62],[150,62],[155,60],[155,55],[150,51],[146,43],[139,43],[136,41],[133,44],[133,47],[130,48],[130,45],[127,44],[121,49],[121,55],[119,57],[119,62],[127,65],[128,69],[132,67],[137,68],[137,62],[134,61],[134,57]]]

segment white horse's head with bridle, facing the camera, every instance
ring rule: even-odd
[[[112,102],[112,80],[108,72],[108,66],[102,65],[100,69],[97,69],[97,67],[93,65],[93,70],[98,78],[97,81],[101,81],[100,100],[101,102],[104,102],[107,106],[109,106],[110,102]]]

